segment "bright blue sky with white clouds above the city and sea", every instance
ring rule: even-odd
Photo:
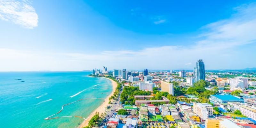
[[[255,67],[255,2],[0,0],[0,71]]]

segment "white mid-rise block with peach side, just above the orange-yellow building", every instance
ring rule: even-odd
[[[193,103],[193,111],[198,115],[202,120],[206,120],[209,116],[213,115],[213,107],[207,103]]]

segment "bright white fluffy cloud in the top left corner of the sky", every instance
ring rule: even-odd
[[[37,27],[38,23],[35,8],[29,0],[0,0],[0,19],[28,29]]]

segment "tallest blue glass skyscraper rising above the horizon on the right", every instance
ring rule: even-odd
[[[204,62],[197,60],[196,67],[194,68],[194,82],[205,80]]]

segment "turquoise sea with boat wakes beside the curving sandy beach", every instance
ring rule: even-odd
[[[90,72],[0,72],[0,127],[74,128],[112,92],[111,81]],[[22,80],[17,80],[22,79]],[[21,82],[25,81],[25,82]],[[51,120],[44,118],[56,114]],[[92,98],[92,99],[90,99]],[[72,117],[63,117],[72,116]]]

